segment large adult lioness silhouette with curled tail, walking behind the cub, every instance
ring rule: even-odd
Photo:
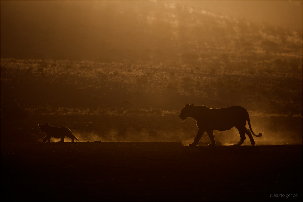
[[[198,133],[194,142],[188,146],[196,146],[205,131],[211,139],[211,144],[208,145],[215,146],[216,141],[212,130],[225,131],[230,130],[234,126],[238,129],[241,138],[240,141],[234,145],[241,145],[244,142],[246,138],[245,133],[248,135],[251,145],[255,145],[255,140],[251,133],[256,137],[261,137],[262,135],[262,133],[256,135],[254,132],[252,132],[248,112],[241,106],[211,109],[207,106],[194,106],[194,104],[186,104],[181,110],[179,117],[182,121],[188,117],[197,121],[197,126],[199,128]],[[246,120],[250,130],[245,127]]]

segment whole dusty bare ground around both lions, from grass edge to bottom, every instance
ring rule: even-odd
[[[264,119],[268,125],[262,128]],[[96,142],[42,143],[39,122],[67,126],[81,141]],[[238,141],[237,131],[230,130],[215,132],[215,148],[205,146],[207,135],[200,146],[189,148],[184,145],[197,127],[192,119],[181,122],[174,116],[2,121],[1,200],[302,201],[301,118],[252,117],[251,122],[255,133],[263,132],[263,138],[255,138],[256,146],[248,146],[248,140],[240,147],[220,146]],[[108,142],[110,135],[115,135],[113,142]],[[266,145],[275,143],[273,135],[285,145]]]

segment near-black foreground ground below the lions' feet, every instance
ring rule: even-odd
[[[302,201],[302,145],[1,142],[1,201],[128,200]]]

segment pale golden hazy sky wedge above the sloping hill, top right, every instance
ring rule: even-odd
[[[175,1],[178,2],[178,1]],[[183,1],[222,15],[266,22],[302,31],[303,1]]]

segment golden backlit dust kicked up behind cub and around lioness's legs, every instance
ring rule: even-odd
[[[248,127],[248,126],[247,126]],[[297,145],[302,144],[302,137],[294,136],[295,133],[290,131],[277,131],[263,129],[258,130],[258,127],[254,127],[258,132],[262,132],[261,137],[253,136],[255,145]],[[110,129],[105,134],[96,133],[79,133],[75,132],[74,135],[79,139],[79,142],[181,142],[182,145],[187,146],[194,141],[197,131],[192,131],[190,134],[182,132],[164,132],[163,130],[156,131],[156,136],[151,135],[147,129],[143,129],[138,132],[132,128],[127,129],[124,136],[119,134],[117,129]],[[257,134],[258,134],[257,132]],[[246,135],[246,134],[245,134]],[[240,135],[238,130],[232,128],[228,131],[216,131],[214,130],[214,136],[217,146],[229,146],[238,143]],[[39,140],[38,140],[39,141]],[[51,142],[57,142],[60,139],[51,138]],[[75,140],[76,141],[76,140]],[[71,142],[71,139],[65,137],[65,142]],[[198,146],[206,146],[211,143],[207,133],[202,136]],[[246,135],[245,141],[242,145],[251,145],[248,136]]]

